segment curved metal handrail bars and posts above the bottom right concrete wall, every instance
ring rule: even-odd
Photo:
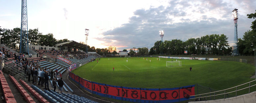
[[[217,95],[225,95],[225,94],[228,94],[228,93],[233,93],[233,92],[237,92],[237,91],[241,91],[241,90],[244,90],[244,89],[247,89],[247,88],[249,88],[249,93],[250,93],[250,87],[253,87],[253,86],[256,86],[256,84],[255,85],[249,85],[248,87],[245,87],[245,88],[242,88],[242,89],[239,89],[239,90],[237,90],[237,87],[239,87],[239,86],[242,86],[242,85],[245,85],[245,84],[251,84],[251,82],[254,82],[254,81],[256,81],[256,80],[253,80],[253,81],[250,81],[250,82],[247,82],[247,83],[244,83],[244,84],[241,84],[241,85],[238,85],[238,86],[235,86],[235,87],[232,87],[232,88],[228,88],[228,89],[224,89],[224,90],[220,90],[220,91],[215,91],[215,92],[210,92],[210,93],[203,93],[203,94],[197,94],[197,95],[191,95],[191,97],[192,96],[194,96],[194,98],[190,98],[190,100],[191,99],[197,99],[197,98],[205,98],[205,97],[212,97],[212,96],[217,96]],[[232,91],[232,92],[228,92],[228,93],[226,93],[226,90],[230,90],[230,89],[233,89],[233,88],[236,88],[236,90],[235,91]],[[222,91],[225,91],[224,93],[221,93],[221,94],[215,94],[215,93],[217,93],[217,92],[222,92]],[[214,95],[209,95],[209,96],[202,96],[202,97],[200,97],[201,95],[206,95],[206,94],[212,94],[212,93],[214,93]],[[195,96],[199,96],[199,97],[195,97]],[[237,96],[237,95],[236,95]],[[225,98],[225,96],[224,96],[224,98]],[[215,100],[215,99],[214,99]]]

